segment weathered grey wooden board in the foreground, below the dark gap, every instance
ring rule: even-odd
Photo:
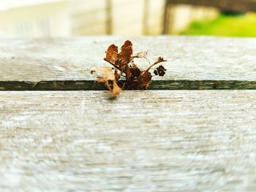
[[[0,191],[256,191],[256,91],[2,91]]]

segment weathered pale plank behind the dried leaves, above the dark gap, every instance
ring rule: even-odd
[[[12,90],[8,87],[14,82],[17,82],[13,85],[15,87],[23,83],[25,87],[32,88],[33,85],[48,83],[45,81],[49,81],[50,85],[52,83],[50,81],[57,83],[71,80],[74,81],[73,84],[79,84],[82,80],[89,81],[91,85],[95,76],[89,73],[90,70],[108,66],[102,59],[108,45],[112,43],[121,45],[125,39],[132,40],[135,52],[148,50],[148,58],[151,61],[159,55],[167,59],[165,64],[167,74],[164,78],[154,77],[156,81],[151,86],[152,89],[160,87],[157,83],[162,83],[162,80],[169,80],[165,82],[166,89],[172,89],[175,85],[178,86],[177,89],[191,89],[186,86],[193,83],[197,83],[195,89],[200,88],[204,83],[206,89],[215,88],[216,85],[210,80],[225,80],[225,85],[219,83],[219,87],[234,88],[234,82],[238,81],[236,82],[238,86],[255,89],[256,39],[253,38],[78,37],[2,39],[0,90]],[[138,60],[136,63],[141,67],[148,66],[146,61]],[[172,83],[173,81],[175,83]]]

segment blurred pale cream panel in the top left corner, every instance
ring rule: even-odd
[[[0,1],[0,37],[67,37],[67,1]]]

